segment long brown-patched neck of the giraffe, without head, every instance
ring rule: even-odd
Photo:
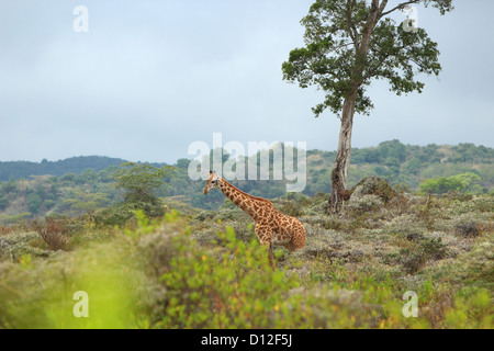
[[[267,208],[272,207],[270,201],[249,195],[222,179],[220,190],[242,211],[247,213],[254,220],[258,220],[266,214]]]

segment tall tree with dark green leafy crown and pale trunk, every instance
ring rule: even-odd
[[[397,10],[423,4],[440,14],[453,9],[452,0],[316,0],[302,19],[305,47],[290,52],[283,63],[283,79],[301,88],[316,86],[325,100],[313,107],[318,117],[326,109],[340,115],[336,162],[332,172],[328,211],[341,210],[348,186],[351,129],[355,112],[370,114],[373,107],[364,94],[373,79],[388,80],[397,95],[422,92],[416,73],[439,75],[439,50],[425,30],[413,21],[396,23],[389,18]]]

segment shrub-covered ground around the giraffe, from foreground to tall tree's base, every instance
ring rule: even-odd
[[[273,200],[306,247],[276,249],[225,202],[165,200],[165,218],[125,227],[96,215],[0,227],[1,328],[493,328],[494,196],[367,194]],[[89,295],[76,318],[74,293]],[[406,318],[406,292],[418,316]]]

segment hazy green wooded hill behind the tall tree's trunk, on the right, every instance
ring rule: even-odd
[[[327,192],[336,151],[307,151],[308,192]],[[362,178],[378,176],[391,183],[418,190],[424,179],[473,172],[482,178],[487,191],[494,186],[494,149],[464,143],[456,146],[429,144],[404,145],[400,140],[380,143],[377,147],[351,149],[349,186]]]

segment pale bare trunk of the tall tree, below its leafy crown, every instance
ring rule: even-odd
[[[335,167],[332,172],[332,195],[328,202],[329,213],[339,213],[341,211],[341,194],[348,186],[348,167],[350,165],[351,129],[353,127],[356,99],[357,89],[345,99],[343,107],[338,150]]]

